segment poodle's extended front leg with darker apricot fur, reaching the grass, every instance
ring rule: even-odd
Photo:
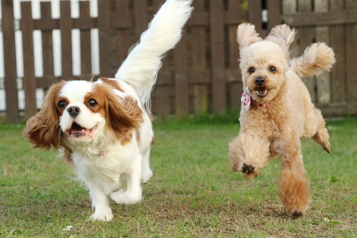
[[[311,202],[309,180],[303,167],[300,140],[295,139],[283,146],[282,171],[277,181],[278,196],[286,213],[301,216]]]

